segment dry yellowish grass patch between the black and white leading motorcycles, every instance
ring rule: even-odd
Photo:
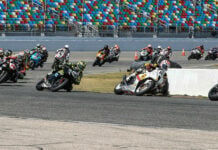
[[[113,93],[115,85],[121,82],[125,74],[127,73],[119,72],[87,75],[82,78],[80,85],[74,85],[74,90]]]

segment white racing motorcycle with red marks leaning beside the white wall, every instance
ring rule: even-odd
[[[166,67],[164,67],[166,69]],[[152,72],[138,69],[115,86],[114,93],[142,96],[144,94],[168,95],[169,83],[165,69],[156,68]]]

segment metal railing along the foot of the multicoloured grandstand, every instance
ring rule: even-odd
[[[76,23],[75,23],[76,24]],[[78,29],[80,26],[75,27],[74,24],[67,24],[67,25],[37,25],[31,26],[29,24],[22,25],[22,24],[0,24],[0,31],[5,32],[57,32],[57,31],[64,31],[64,32],[71,32]],[[92,28],[93,29],[93,28]],[[95,26],[94,32],[114,32],[116,29],[115,26],[111,25],[100,25]],[[119,26],[118,32],[165,32],[165,33],[180,33],[180,32],[190,32],[190,27],[182,27],[182,26]],[[204,28],[195,28],[195,32],[211,32],[211,31],[218,31],[218,28],[215,27],[204,27]]]

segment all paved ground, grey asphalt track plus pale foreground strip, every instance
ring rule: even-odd
[[[92,67],[95,53],[72,50],[71,60],[86,61],[88,75],[124,72],[134,58],[134,51],[122,51],[119,62]],[[172,60],[183,68],[217,68],[217,60],[188,61],[188,54],[174,52]],[[0,150],[218,149],[217,102],[207,97],[36,91],[53,58],[51,51],[43,68],[28,71],[18,83],[0,85]]]

